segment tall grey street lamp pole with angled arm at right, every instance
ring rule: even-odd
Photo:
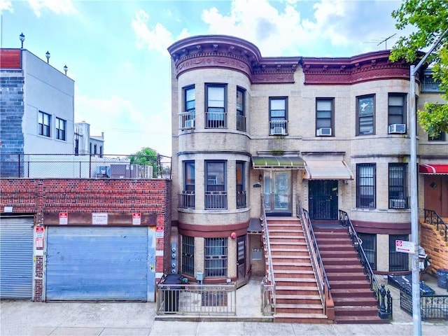
[[[448,33],[445,30],[437,38],[428,52],[420,60],[419,64],[411,65],[410,83],[409,83],[409,123],[410,123],[410,165],[411,165],[411,237],[414,245],[412,253],[412,325],[414,326],[414,336],[421,336],[421,311],[420,311],[420,267],[419,267],[419,202],[417,193],[417,132],[416,132],[416,106],[415,106],[415,73],[426,61],[435,47],[442,41],[442,38]]]

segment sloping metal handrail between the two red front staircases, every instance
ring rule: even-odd
[[[311,219],[309,218],[309,213],[307,210],[302,208],[302,204],[300,202],[300,197],[297,195],[297,217],[300,218],[300,222],[302,223],[302,228],[304,230],[305,239],[307,241],[308,251],[311,257],[311,265],[314,270],[314,274],[318,277],[317,288],[319,291],[319,295],[321,297],[321,302],[325,309],[325,300],[330,299],[330,283],[328,281],[327,273],[325,272],[325,267],[323,267],[323,262],[321,258],[321,253],[316,243],[316,237],[314,235],[314,230],[311,225]],[[327,286],[325,295],[325,286]]]

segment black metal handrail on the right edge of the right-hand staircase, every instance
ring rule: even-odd
[[[370,262],[367,259],[367,255],[365,255],[365,251],[362,245],[362,240],[358,237],[356,234],[355,228],[353,227],[353,224],[351,223],[351,220],[349,218],[349,214],[347,214],[345,211],[339,210],[339,223],[347,228],[347,231],[349,233],[350,239],[353,242],[353,246],[355,246],[356,251],[358,251],[358,255],[360,257],[361,265],[364,267],[364,272],[367,278],[370,281],[370,289],[374,291],[374,296],[377,299],[378,307],[381,306],[381,287],[379,286],[377,282],[377,278],[374,276],[372,267],[370,266]],[[384,285],[382,286],[384,288]],[[384,303],[384,302],[383,302]],[[392,307],[387,307],[387,313],[389,318],[392,318]]]

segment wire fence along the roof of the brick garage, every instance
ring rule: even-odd
[[[171,178],[164,155],[0,154],[1,178],[153,179]]]

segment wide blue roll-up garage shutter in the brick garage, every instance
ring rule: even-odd
[[[148,228],[50,226],[47,235],[47,301],[146,301]]]

